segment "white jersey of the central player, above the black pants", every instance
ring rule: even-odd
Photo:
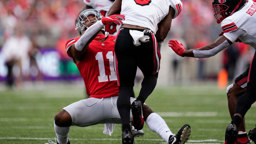
[[[146,27],[156,33],[157,24],[169,13],[170,6],[175,10],[173,18],[177,17],[182,10],[180,0],[122,0],[121,15],[126,18],[123,23]]]

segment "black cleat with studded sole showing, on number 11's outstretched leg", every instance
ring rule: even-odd
[[[185,124],[176,135],[170,135],[168,144],[185,144],[191,132],[190,125]]]

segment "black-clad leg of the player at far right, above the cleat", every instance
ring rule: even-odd
[[[256,53],[256,52],[255,52]],[[235,113],[245,116],[246,112],[250,109],[251,105],[256,101],[256,57],[252,59],[249,69],[247,87],[245,93],[238,98],[236,102]]]

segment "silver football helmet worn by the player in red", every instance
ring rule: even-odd
[[[88,16],[90,16],[90,15],[95,15],[95,17],[97,19],[90,21],[88,18]],[[86,29],[88,28],[87,25],[89,23],[101,20],[101,18],[102,18],[101,13],[95,9],[87,9],[87,10],[82,11],[81,14],[79,15],[78,19],[76,20],[76,30],[78,31],[79,35],[81,36],[84,33],[84,31],[86,31]],[[89,21],[89,23],[87,23],[85,25],[86,19]]]

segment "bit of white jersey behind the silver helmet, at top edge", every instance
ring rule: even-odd
[[[108,11],[113,4],[110,0],[84,0],[84,3],[98,11]],[[105,16],[105,15],[103,15]]]

